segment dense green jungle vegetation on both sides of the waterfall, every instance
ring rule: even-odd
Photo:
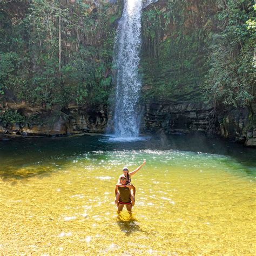
[[[2,1],[2,104],[28,102],[46,110],[109,104],[121,2]],[[255,96],[255,9],[250,0],[160,0],[144,9],[144,100],[250,105]]]

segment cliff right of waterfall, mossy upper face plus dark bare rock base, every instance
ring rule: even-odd
[[[255,99],[244,107],[205,103],[204,76],[211,48],[207,33],[216,30],[212,21],[218,10],[214,1],[205,8],[200,1],[168,5],[159,0],[144,10],[141,130],[205,132],[256,146]]]

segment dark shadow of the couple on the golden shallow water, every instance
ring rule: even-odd
[[[148,234],[146,231],[143,231],[139,224],[138,219],[132,214],[127,212],[120,212],[117,215],[117,224],[120,227],[120,230],[125,233],[127,237],[133,232],[143,232]]]

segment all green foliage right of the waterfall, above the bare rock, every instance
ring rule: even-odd
[[[144,98],[250,104],[255,6],[249,0],[169,0],[144,11]]]

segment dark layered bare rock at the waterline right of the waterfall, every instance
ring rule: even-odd
[[[219,134],[221,137],[256,146],[255,110],[240,107],[222,112],[204,103],[149,103],[144,107],[141,132],[189,133],[205,132]],[[210,127],[210,128],[209,128]],[[212,131],[210,131],[212,129]]]

